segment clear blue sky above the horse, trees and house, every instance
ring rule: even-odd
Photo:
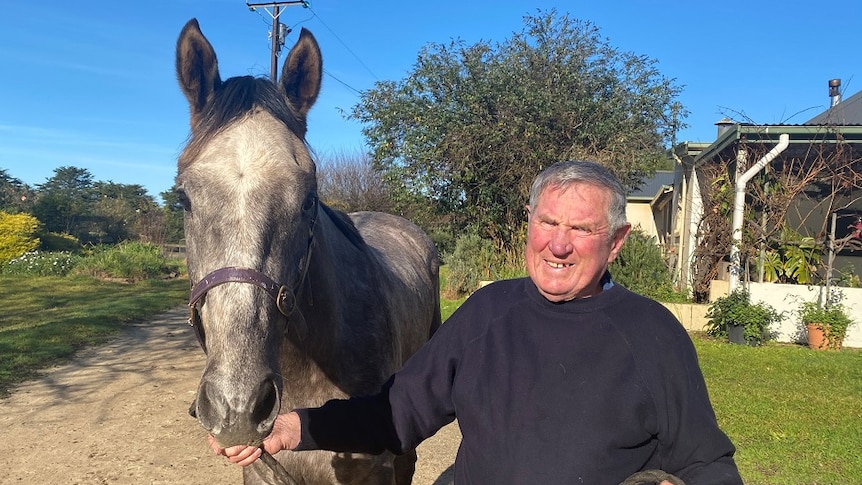
[[[174,48],[192,17],[222,78],[269,74],[271,17],[244,0],[0,5],[0,168],[30,185],[71,165],[95,180],[143,185],[157,200],[172,187],[188,134]],[[323,52],[310,145],[323,158],[362,151],[361,126],[341,111],[376,81],[403,79],[423,45],[501,42],[524,15],[551,8],[592,21],[620,50],[656,59],[684,87],[679,99],[691,113],[680,141],[711,141],[724,116],[803,123],[829,106],[831,78],[842,80],[845,97],[862,89],[856,1],[311,0],[282,14],[293,29],[288,47],[306,27]]]

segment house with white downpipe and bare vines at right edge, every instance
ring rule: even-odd
[[[748,234],[758,228],[763,234],[771,230],[772,240],[785,226],[787,234],[818,244],[828,241],[833,231],[834,239],[852,239],[856,223],[862,221],[862,92],[842,102],[839,86],[840,81],[830,81],[832,106],[806,123],[755,125],[724,119],[717,123],[715,141],[684,142],[673,148],[675,215],[668,239],[677,242],[676,276],[682,286],[703,296],[715,279],[727,279],[731,287],[738,278],[764,280],[769,264],[783,256],[765,243],[752,247],[755,242],[742,241],[742,225]],[[823,172],[810,180],[805,177],[823,163],[843,171],[831,178]],[[766,172],[789,176],[773,180],[764,177]],[[797,188],[804,185],[804,190],[786,196],[792,181],[799,183]],[[752,207],[756,200],[784,212]],[[731,213],[733,224],[725,227]],[[767,213],[784,218],[767,220]],[[860,249],[845,246],[834,255],[832,268],[843,275],[862,274]],[[740,256],[740,250],[748,251],[748,257]],[[757,251],[760,254],[754,257]]]

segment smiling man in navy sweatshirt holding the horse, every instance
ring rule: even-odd
[[[376,396],[281,415],[266,450],[399,453],[457,418],[459,485],[618,484],[647,469],[742,483],[687,333],[608,273],[631,231],[625,204],[601,165],[544,170],[529,278],[474,293]],[[240,465],[260,456],[212,446]]]

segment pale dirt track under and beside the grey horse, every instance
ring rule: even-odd
[[[204,355],[184,308],[131,325],[0,400],[0,484],[240,484],[188,415]],[[423,443],[413,483],[451,485],[450,425]]]

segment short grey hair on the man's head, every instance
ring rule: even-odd
[[[610,193],[611,200],[607,213],[610,237],[628,223],[625,187],[604,166],[584,160],[557,162],[542,170],[530,188],[530,207],[536,206],[545,189],[549,187],[568,189],[575,184],[594,185]]]

